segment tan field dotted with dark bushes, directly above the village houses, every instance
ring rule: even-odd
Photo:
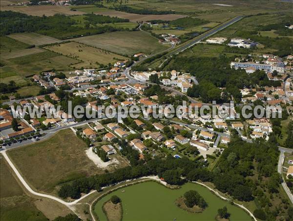
[[[93,63],[108,64],[114,63],[115,61],[117,61],[116,59],[127,59],[126,57],[73,41],[63,44],[47,46],[45,47],[45,49],[54,51],[56,53],[61,53],[70,58],[82,60],[85,63],[88,63],[84,67],[91,66]]]

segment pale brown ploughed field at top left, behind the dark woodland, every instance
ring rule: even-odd
[[[8,6],[1,5],[1,11],[15,11],[33,16],[53,16],[55,14],[63,15],[82,15],[83,12],[70,11],[70,8],[60,5],[34,5],[34,6]]]

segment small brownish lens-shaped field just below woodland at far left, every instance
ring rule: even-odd
[[[34,45],[61,42],[61,40],[54,39],[49,36],[39,35],[37,33],[17,33],[17,34],[11,34],[8,37],[15,40],[19,40],[26,44],[34,44]]]

